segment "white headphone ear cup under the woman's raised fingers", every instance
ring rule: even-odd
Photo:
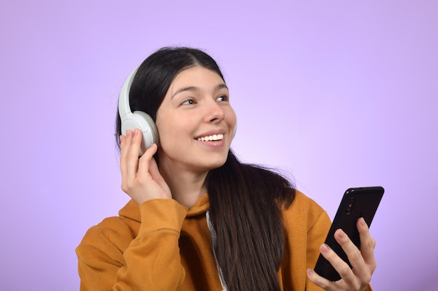
[[[159,143],[158,130],[152,117],[142,111],[134,111],[122,119],[122,134],[126,135],[127,130],[134,131],[136,128],[139,128],[142,133],[139,153],[139,156],[142,156],[146,149]]]

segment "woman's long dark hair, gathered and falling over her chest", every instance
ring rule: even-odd
[[[174,77],[192,66],[209,68],[224,79],[216,61],[205,52],[164,47],[139,67],[129,93],[131,110],[146,112],[155,120]],[[115,137],[119,147],[120,134],[118,116]],[[277,271],[284,244],[281,208],[290,207],[295,196],[290,181],[264,167],[241,163],[230,149],[225,164],[209,171],[205,183],[209,218],[216,234],[213,251],[227,290],[280,290]]]

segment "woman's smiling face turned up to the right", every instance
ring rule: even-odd
[[[182,70],[171,82],[155,123],[160,165],[205,171],[227,160],[236,114],[222,78],[195,66]]]

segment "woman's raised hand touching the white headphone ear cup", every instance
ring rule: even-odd
[[[141,131],[127,130],[126,136],[120,135],[120,171],[122,172],[122,191],[137,204],[155,198],[171,199],[171,191],[164,181],[153,155],[157,145],[146,150],[139,158]]]

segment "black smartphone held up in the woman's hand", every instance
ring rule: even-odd
[[[344,197],[342,197],[341,204],[339,204],[337,213],[334,216],[332,227],[330,227],[325,239],[325,244],[330,246],[350,267],[351,264],[346,253],[334,239],[334,232],[341,228],[353,241],[353,244],[360,248],[360,237],[356,223],[359,218],[363,217],[368,227],[371,225],[384,192],[385,190],[381,186],[349,188],[344,193]],[[332,267],[332,264],[325,260],[321,254],[314,270],[320,276],[330,281],[338,281],[341,278],[334,267]]]

